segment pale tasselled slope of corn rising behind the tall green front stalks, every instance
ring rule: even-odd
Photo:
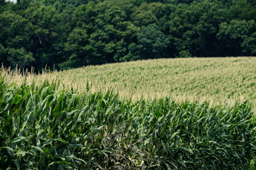
[[[173,98],[231,104],[249,100],[256,106],[256,57],[215,57],[143,60],[88,66],[63,72],[28,75],[26,80],[59,80],[78,91],[115,88],[121,97]],[[22,82],[15,75],[7,79]],[[62,88],[60,86],[60,88]]]

